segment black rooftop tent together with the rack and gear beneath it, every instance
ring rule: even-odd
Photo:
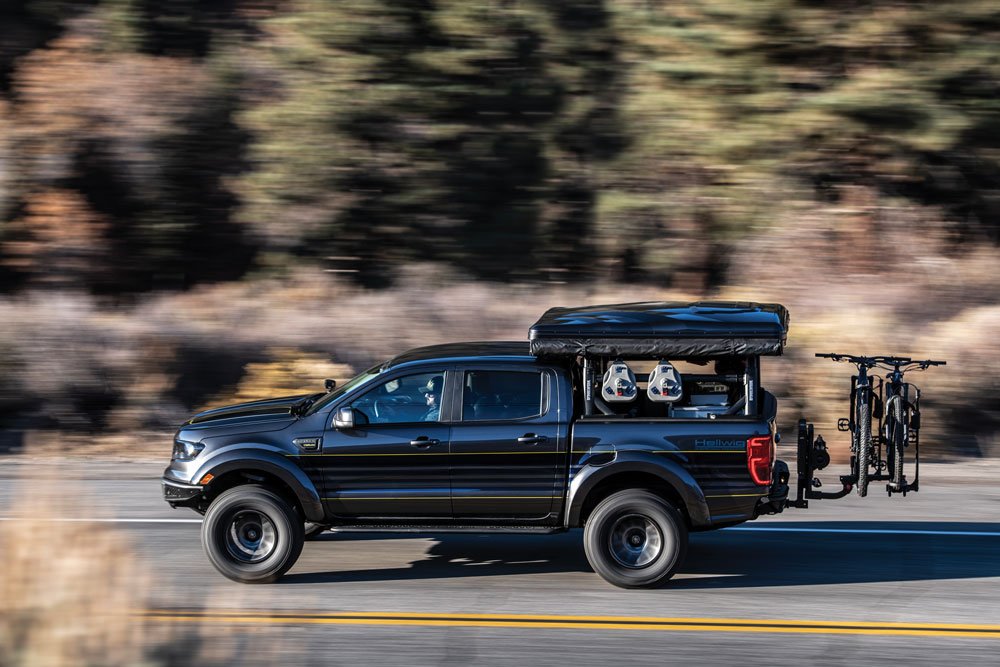
[[[773,420],[777,402],[760,389],[759,357],[784,351],[788,322],[788,310],[776,303],[557,307],[531,326],[528,340],[537,358],[578,366],[583,417]],[[649,386],[661,373],[674,380],[672,399]],[[599,377],[605,381],[597,389]],[[615,396],[609,381],[627,395]]]

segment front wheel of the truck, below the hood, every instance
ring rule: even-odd
[[[255,515],[269,522],[272,546],[259,561],[241,561],[234,555],[235,522],[241,516]],[[237,486],[219,494],[201,527],[201,543],[215,569],[245,584],[276,581],[298,560],[303,540],[302,519],[295,508],[277,493],[257,485]]]

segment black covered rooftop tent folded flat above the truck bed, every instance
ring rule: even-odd
[[[528,339],[535,356],[676,359],[781,354],[787,335],[777,303],[655,301],[551,308]]]

